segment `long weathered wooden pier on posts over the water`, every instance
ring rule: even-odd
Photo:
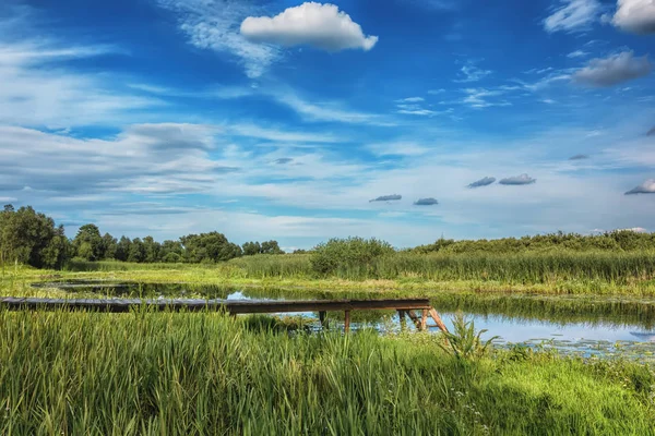
[[[33,299],[0,298],[0,308],[11,311],[73,310],[109,313],[124,313],[139,306],[155,311],[216,311],[230,315],[257,313],[318,312],[323,326],[326,326],[326,312],[344,312],[344,327],[350,330],[352,311],[397,311],[401,323],[407,315],[419,330],[438,327],[448,331],[437,311],[428,299],[409,300],[295,300],[295,301],[249,301],[249,300],[190,300],[190,299]],[[418,315],[417,312],[420,314]],[[433,326],[428,326],[432,318]]]

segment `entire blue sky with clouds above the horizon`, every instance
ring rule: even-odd
[[[655,231],[653,47],[652,0],[4,1],[0,201],[286,249]]]

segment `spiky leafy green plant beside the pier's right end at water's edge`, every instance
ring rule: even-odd
[[[453,331],[442,332],[446,343],[440,343],[439,346],[443,350],[452,352],[457,359],[479,359],[487,353],[491,342],[500,338],[499,336],[495,336],[483,342],[480,336],[486,332],[487,329],[476,332],[473,320],[466,320],[466,317],[458,312],[453,319]]]

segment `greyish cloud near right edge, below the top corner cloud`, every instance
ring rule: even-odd
[[[651,70],[646,56],[635,57],[633,51],[623,51],[604,59],[592,59],[587,66],[573,74],[573,81],[594,87],[614,86],[647,75]]]

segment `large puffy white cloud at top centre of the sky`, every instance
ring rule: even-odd
[[[370,50],[377,36],[366,36],[350,15],[330,3],[306,2],[270,16],[249,16],[241,35],[252,43],[281,46],[308,45],[327,51]]]

